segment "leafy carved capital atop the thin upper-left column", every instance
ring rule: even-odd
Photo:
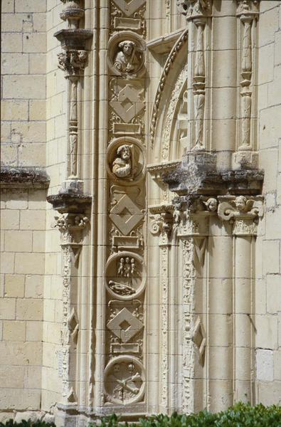
[[[87,51],[69,50],[58,53],[58,68],[67,75],[80,75],[88,57]]]

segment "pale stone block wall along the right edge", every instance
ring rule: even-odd
[[[258,134],[260,168],[265,170],[265,216],[256,259],[257,401],[281,396],[281,5],[261,1],[258,45]],[[272,381],[274,381],[272,383]]]

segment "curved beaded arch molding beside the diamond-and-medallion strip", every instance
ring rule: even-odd
[[[159,80],[159,85],[157,88],[157,93],[154,98],[154,103],[152,107],[152,119],[150,123],[150,146],[153,149],[155,145],[155,136],[156,136],[156,130],[157,125],[159,122],[159,112],[161,112],[161,105],[164,103],[164,93],[167,92],[167,81],[169,80],[169,73],[171,71],[171,68],[173,67],[174,63],[176,63],[176,58],[178,58],[179,53],[182,53],[183,48],[186,46],[188,38],[188,29],[186,28],[182,33],[181,36],[179,36],[178,40],[174,44],[174,47],[171,49],[171,52],[169,53],[169,56],[166,60],[166,63],[163,68],[163,72],[161,74],[161,78]],[[186,55],[184,55],[181,60],[179,61],[179,64],[184,65],[186,63],[186,56],[187,56],[187,49],[186,49]],[[176,73],[177,75],[178,73]],[[169,88],[171,89],[171,88]]]

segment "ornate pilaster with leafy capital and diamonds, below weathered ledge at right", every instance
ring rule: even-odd
[[[206,407],[206,307],[203,295],[206,292],[204,260],[212,210],[209,200],[186,196],[174,201],[174,222],[179,239],[178,263],[181,266],[178,273],[181,283],[178,321],[182,334],[179,381],[182,381],[181,410],[187,413]]]

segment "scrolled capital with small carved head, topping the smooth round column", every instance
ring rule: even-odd
[[[257,233],[258,219],[263,216],[263,199],[245,196],[220,197],[218,217],[233,222],[235,236],[253,236]]]

